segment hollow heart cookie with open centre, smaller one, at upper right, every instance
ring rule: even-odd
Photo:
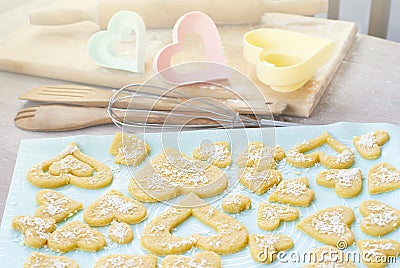
[[[322,145],[327,144],[339,155],[330,156],[321,151],[314,151],[306,154],[309,151],[315,150]],[[326,168],[343,169],[349,168],[354,163],[354,154],[349,148],[344,146],[339,141],[335,140],[328,132],[303,142],[289,150],[286,157],[286,162],[295,167],[308,168],[321,163]]]

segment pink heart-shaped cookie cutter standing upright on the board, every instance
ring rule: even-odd
[[[189,34],[197,34],[203,44],[208,61],[199,62],[198,67],[187,65],[179,71],[174,69],[172,57],[183,49],[183,40]],[[228,79],[229,67],[222,47],[222,42],[214,21],[199,11],[189,12],[178,19],[172,33],[172,43],[160,50],[153,62],[156,73],[172,84],[191,84],[196,82]],[[201,63],[201,64],[200,64]],[[182,69],[185,69],[182,72]]]

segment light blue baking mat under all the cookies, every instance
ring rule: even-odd
[[[355,234],[356,240],[372,238],[361,232],[359,229],[362,216],[358,212],[358,205],[363,200],[376,199],[394,206],[400,209],[400,195],[399,191],[392,191],[385,194],[369,195],[367,190],[366,175],[369,168],[375,163],[388,162],[396,167],[400,167],[400,128],[395,125],[389,124],[355,124],[355,123],[337,123],[326,126],[300,126],[300,127],[288,127],[278,128],[275,131],[271,129],[239,129],[239,130],[203,130],[196,132],[182,132],[182,133],[146,133],[143,138],[152,147],[150,157],[157,155],[162,146],[175,146],[183,152],[190,154],[194,147],[200,142],[205,140],[230,140],[233,157],[243,151],[248,141],[264,141],[268,144],[279,144],[284,147],[285,150],[290,149],[294,145],[308,140],[317,135],[320,135],[324,131],[329,131],[336,139],[343,142],[351,149],[355,150],[352,146],[352,137],[355,135],[365,134],[367,132],[383,129],[387,130],[391,136],[391,139],[387,144],[383,146],[382,156],[377,160],[368,161],[362,159],[358,153],[356,155],[356,162],[353,167],[358,167],[362,170],[364,175],[363,190],[360,195],[352,199],[343,199],[338,197],[332,188],[322,187],[316,184],[315,176],[324,168],[323,167],[312,167],[309,169],[298,169],[286,165],[284,161],[279,164],[279,170],[282,172],[284,179],[292,179],[300,176],[307,176],[309,178],[310,188],[316,192],[316,199],[307,208],[300,208],[300,218],[303,218],[311,213],[321,210],[326,207],[345,205],[353,208],[356,214],[356,221],[352,225],[352,230]],[[108,192],[110,189],[117,189],[124,194],[129,195],[127,186],[129,179],[131,178],[131,172],[135,173],[137,168],[128,170],[124,166],[115,165],[113,158],[108,154],[108,147],[111,144],[113,136],[75,136],[65,138],[54,138],[54,139],[34,139],[34,140],[23,140],[20,145],[17,162],[15,165],[14,175],[11,182],[10,192],[1,223],[0,229],[0,258],[2,260],[2,267],[22,267],[25,259],[28,255],[35,251],[23,245],[23,236],[10,228],[11,221],[14,216],[17,215],[33,215],[37,208],[35,204],[35,195],[40,190],[39,188],[31,186],[25,179],[26,172],[28,169],[43,160],[47,160],[54,155],[62,151],[71,141],[76,141],[81,150],[98,160],[101,160],[108,164],[114,172],[114,181],[111,186],[100,189],[100,190],[83,190],[75,186],[64,186],[56,189],[63,195],[70,197],[75,200],[79,200],[83,203],[84,208],[90,203],[94,202],[101,194]],[[246,140],[245,140],[246,139]],[[323,151],[330,151],[331,149],[327,146],[322,147]],[[143,164],[142,164],[143,165]],[[140,166],[139,166],[140,168]],[[244,189],[240,184],[236,182],[236,171],[237,168],[233,165],[226,169],[230,180],[229,189],[217,198],[208,199],[213,201],[212,205],[220,209],[221,198],[226,194],[230,193],[242,193],[250,196],[252,199],[252,209],[234,215],[236,219],[244,223],[249,231],[249,234],[268,234],[268,233],[282,233],[290,236],[295,242],[295,247],[288,252],[287,258],[283,261],[287,263],[275,262],[269,267],[301,267],[302,262],[297,260],[298,254],[301,255],[303,252],[307,252],[311,248],[321,246],[323,244],[317,242],[313,238],[307,236],[301,231],[295,228],[295,224],[298,221],[283,222],[281,226],[273,231],[267,232],[262,231],[257,226],[257,208],[258,204],[267,200],[268,193],[258,196],[250,193]],[[181,197],[177,197],[171,202],[177,202]],[[101,256],[108,255],[111,253],[127,253],[127,254],[145,254],[146,251],[140,246],[140,235],[144,225],[149,219],[154,218],[161,212],[167,209],[165,204],[146,204],[148,209],[148,219],[140,224],[132,225],[134,230],[134,240],[128,245],[117,245],[109,241],[107,237],[107,227],[98,228],[106,237],[108,245],[105,249],[97,253],[88,253],[82,251],[74,251],[65,254],[67,257],[75,259],[80,267],[93,267],[95,261]],[[74,217],[69,218],[66,222],[72,220],[83,221],[83,211],[80,211]],[[58,226],[65,224],[60,223]],[[180,226],[174,232],[176,235],[189,235],[193,232],[201,233],[204,235],[212,234],[214,231],[209,227],[203,225],[195,218],[190,218]],[[400,230],[396,230],[384,238],[391,238],[398,240],[400,237]],[[347,251],[354,252],[357,248],[355,244],[347,249]],[[37,251],[57,255],[58,253],[52,252],[47,248],[42,248]],[[186,253],[186,255],[193,255],[196,253],[196,249],[192,249]],[[293,258],[292,258],[293,257]],[[159,265],[161,264],[162,258],[159,258]],[[389,267],[398,267],[400,258],[397,258],[397,264],[392,264]],[[262,264],[256,263],[250,256],[248,247],[242,251],[222,256],[223,267],[262,267]],[[359,267],[363,267],[362,264],[358,264]]]

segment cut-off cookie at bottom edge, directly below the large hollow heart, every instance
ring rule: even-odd
[[[193,257],[181,255],[169,255],[162,261],[163,268],[190,268],[190,267],[204,267],[204,268],[220,268],[221,257],[212,251],[199,252]]]

